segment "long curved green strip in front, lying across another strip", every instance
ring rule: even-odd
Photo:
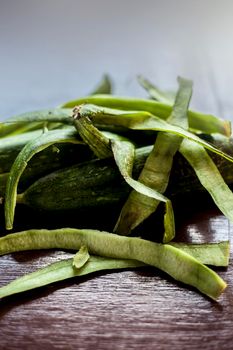
[[[78,250],[82,245],[90,254],[133,259],[157,267],[212,299],[217,299],[226,288],[226,283],[214,271],[180,249],[104,231],[63,228],[13,233],[0,238],[0,254],[32,249]]]

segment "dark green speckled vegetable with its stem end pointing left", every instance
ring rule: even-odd
[[[114,161],[103,159],[53,172],[18,199],[33,208],[57,211],[117,204],[127,191]]]

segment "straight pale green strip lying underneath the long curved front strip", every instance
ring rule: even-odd
[[[230,251],[230,244],[228,241],[211,244],[172,243],[172,245],[187,252],[204,264],[215,266],[228,265]],[[49,266],[40,268],[35,272],[17,278],[13,282],[0,288],[0,298],[69,278],[84,276],[96,271],[125,268],[131,269],[145,266],[145,264],[137,260],[90,256],[81,268],[74,269],[73,265],[75,256],[73,259],[66,259],[52,263]]]

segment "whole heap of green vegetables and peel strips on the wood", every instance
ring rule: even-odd
[[[147,265],[214,300],[226,288],[206,265],[228,265],[228,239],[202,245],[171,242],[176,227],[170,194],[188,187],[186,175],[199,180],[199,187],[233,221],[233,194],[224,181],[233,183],[230,122],[189,110],[189,80],[178,78],[175,95],[143,77],[139,82],[150,98],[112,96],[111,81],[104,76],[85,98],[14,116],[0,125],[0,196],[6,230],[14,228],[18,204],[78,213],[121,203],[114,233],[59,227],[1,237],[0,255],[33,249],[76,254],[1,287],[0,298],[94,271]],[[176,165],[179,159],[182,166]],[[182,172],[182,184],[174,181],[173,169],[177,178]],[[153,242],[126,237],[155,213],[160,202],[165,206],[162,242],[156,228]]]

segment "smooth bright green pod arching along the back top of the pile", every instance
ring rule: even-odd
[[[172,106],[141,98],[117,97],[109,95],[94,95],[73,100],[64,103],[61,108],[74,108],[81,104],[94,104],[102,107],[116,108],[125,111],[142,111],[162,119],[167,119],[171,114]],[[200,112],[189,111],[189,126],[190,128],[202,131],[207,134],[220,132],[223,135],[230,136],[231,124],[229,121],[219,119],[213,115],[207,115]],[[203,120],[206,120],[203,126]]]

